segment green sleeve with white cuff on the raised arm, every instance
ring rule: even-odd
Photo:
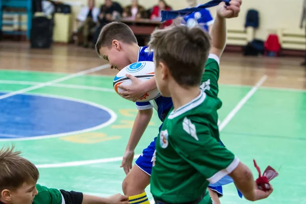
[[[215,54],[209,54],[205,64],[205,71],[202,75],[200,89],[214,96],[218,95],[218,80],[219,80],[219,63],[220,59]]]

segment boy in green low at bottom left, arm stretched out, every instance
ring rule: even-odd
[[[38,177],[35,165],[22,158],[19,151],[0,149],[0,204],[129,203],[129,197],[120,194],[104,198],[40,186],[37,184]]]

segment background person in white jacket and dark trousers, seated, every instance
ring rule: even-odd
[[[80,22],[77,35],[83,34],[83,46],[88,47],[88,36],[98,21],[99,9],[95,7],[94,0],[88,0],[88,6],[83,7],[77,17]]]

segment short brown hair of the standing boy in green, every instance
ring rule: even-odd
[[[211,38],[198,27],[172,25],[151,34],[150,49],[156,64],[163,62],[173,79],[181,86],[200,85],[210,48]]]

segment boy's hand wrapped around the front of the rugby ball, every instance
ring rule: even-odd
[[[121,91],[119,95],[123,98],[133,98],[133,102],[135,102],[139,97],[145,94],[142,89],[143,82],[131,74],[126,74],[126,77],[132,80],[132,84],[130,86],[118,85],[118,88],[124,90]]]

